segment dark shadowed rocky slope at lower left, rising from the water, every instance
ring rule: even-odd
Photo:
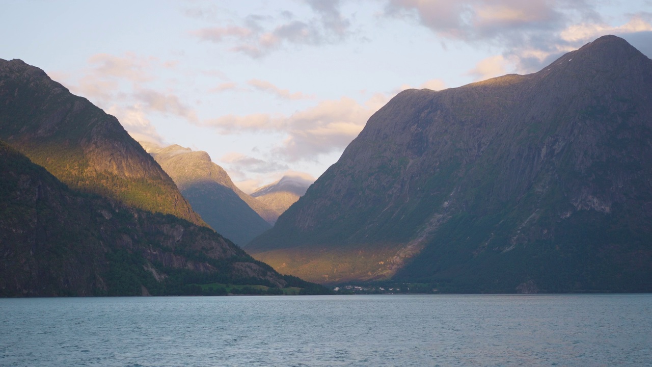
[[[73,191],[4,142],[0,172],[0,296],[174,295],[211,281],[288,284],[213,230]]]

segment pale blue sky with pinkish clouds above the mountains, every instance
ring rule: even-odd
[[[528,74],[601,35],[652,57],[652,0],[0,0],[0,58],[251,193],[317,178],[408,88]]]

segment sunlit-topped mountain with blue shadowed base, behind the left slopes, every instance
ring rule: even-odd
[[[179,187],[192,208],[216,232],[239,245],[246,244],[274,223],[275,212],[243,193],[206,152],[172,145],[162,148],[141,142]],[[264,217],[263,217],[264,215]]]

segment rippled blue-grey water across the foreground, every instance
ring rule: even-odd
[[[0,299],[0,366],[652,366],[652,295]]]

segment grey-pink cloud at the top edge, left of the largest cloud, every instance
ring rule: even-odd
[[[340,13],[340,1],[305,0],[312,17],[295,19],[282,11],[278,16],[246,16],[240,24],[203,27],[190,31],[202,41],[229,44],[228,50],[252,58],[267,56],[270,52],[293,45],[318,46],[341,42],[349,35],[351,22]],[[203,11],[186,11],[189,16],[203,16]]]

